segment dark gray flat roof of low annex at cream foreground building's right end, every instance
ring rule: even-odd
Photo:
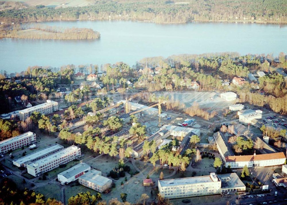
[[[217,177],[221,181],[221,188],[238,188],[245,186],[236,173],[218,174]]]

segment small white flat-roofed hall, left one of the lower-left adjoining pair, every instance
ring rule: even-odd
[[[58,174],[58,180],[61,184],[68,184],[77,180],[80,176],[85,174],[85,172],[90,171],[91,166],[86,163],[79,163],[70,169],[67,169],[60,174]]]

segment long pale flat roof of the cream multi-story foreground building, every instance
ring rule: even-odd
[[[165,186],[179,186],[179,185],[188,185],[188,184],[201,184],[201,183],[210,183],[214,182],[210,175],[208,176],[198,176],[198,177],[187,177],[179,179],[168,179],[168,180],[159,180],[161,187]]]

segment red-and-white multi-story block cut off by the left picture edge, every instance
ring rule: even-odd
[[[20,147],[30,145],[36,142],[36,134],[32,132],[26,132],[22,135],[11,137],[0,142],[0,153],[6,153],[9,150],[18,149]]]

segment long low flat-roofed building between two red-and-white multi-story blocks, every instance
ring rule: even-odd
[[[12,162],[13,162],[13,165],[17,167],[26,167],[28,163],[31,163],[43,157],[49,156],[57,151],[60,151],[61,149],[64,149],[62,145],[54,144],[44,149],[40,149],[36,152],[28,154],[24,157],[21,157],[19,159],[15,159]]]

